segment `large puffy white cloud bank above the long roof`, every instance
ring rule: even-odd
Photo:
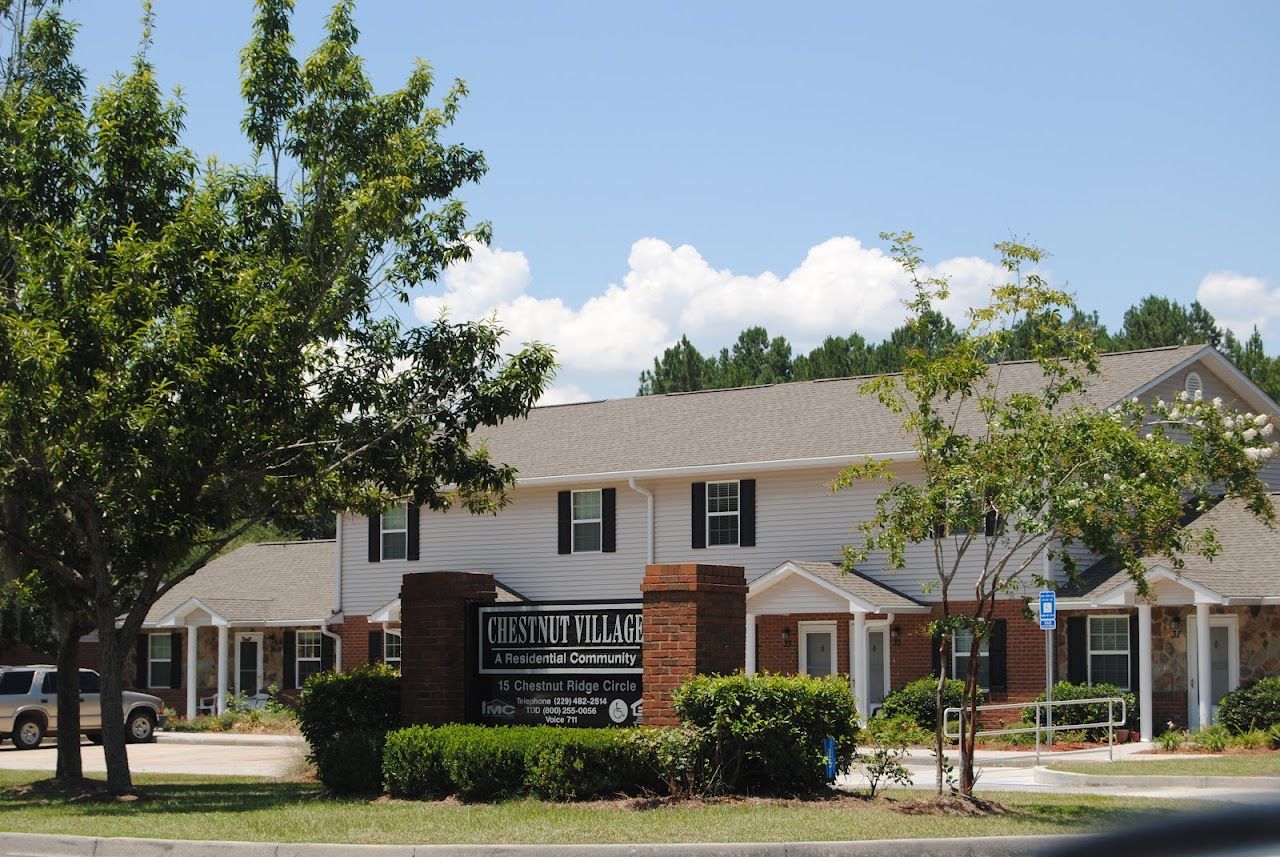
[[[951,258],[936,270],[951,278],[942,310],[957,322],[1004,279],[998,266],[977,257]],[[468,262],[445,271],[444,294],[416,298],[413,310],[422,320],[442,307],[457,318],[495,312],[513,342],[538,339],[556,348],[563,367],[556,395],[588,398],[586,389],[632,394],[640,370],[681,334],[707,353],[731,344],[746,326],[764,325],[799,353],[829,334],[884,336],[902,324],[902,301],[910,295],[902,270],[851,237],[810,248],[783,276],[716,269],[689,244],[643,238],[631,246],[622,281],[580,307],[527,294],[531,279],[524,253],[476,247]]]

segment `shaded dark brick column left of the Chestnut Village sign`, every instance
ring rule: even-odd
[[[463,723],[475,668],[467,640],[472,605],[493,604],[493,574],[424,572],[401,582],[401,716],[406,724]]]

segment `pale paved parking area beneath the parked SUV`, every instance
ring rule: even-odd
[[[237,776],[288,776],[300,770],[306,748],[292,746],[129,744],[129,770],[134,774],[224,774]],[[81,747],[86,771],[105,771],[102,748]],[[58,750],[46,741],[36,750],[0,744],[0,770],[52,771]]]

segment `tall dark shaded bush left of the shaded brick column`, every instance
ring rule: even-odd
[[[383,741],[399,725],[401,675],[385,664],[316,673],[298,697],[298,728],[325,787],[339,794],[376,792]]]

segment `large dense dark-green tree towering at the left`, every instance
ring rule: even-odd
[[[526,413],[553,371],[538,344],[503,356],[494,324],[385,313],[488,240],[454,196],[484,159],[442,139],[465,91],[433,104],[420,63],[376,93],[351,3],[300,61],[292,5],[257,3],[257,160],[228,166],[182,145],[150,10],[128,72],[88,97],[58,5],[0,3],[0,549],[92,617],[116,794],[124,660],[157,597],[261,522],[495,509],[515,475],[472,431]]]

